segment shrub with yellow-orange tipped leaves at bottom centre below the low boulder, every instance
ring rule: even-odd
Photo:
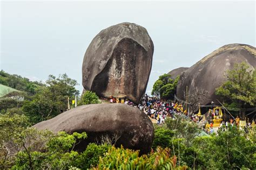
[[[149,156],[139,157],[139,151],[131,149],[115,148],[109,149],[105,157],[99,160],[99,169],[185,169],[186,167],[176,167],[176,157],[171,158],[169,148],[156,149],[156,152]]]

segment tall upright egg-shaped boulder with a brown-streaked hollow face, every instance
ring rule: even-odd
[[[138,104],[149,81],[153,51],[149,33],[140,25],[120,23],[100,31],[84,55],[84,89]]]

